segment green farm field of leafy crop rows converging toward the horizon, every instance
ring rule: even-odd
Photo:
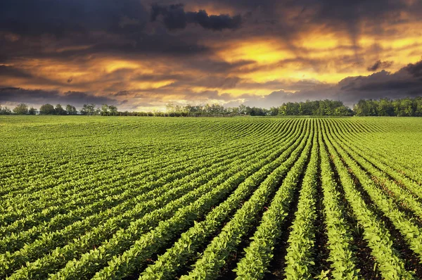
[[[0,117],[0,279],[421,279],[422,121]]]

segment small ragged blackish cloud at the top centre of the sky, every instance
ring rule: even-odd
[[[184,29],[188,23],[196,23],[205,29],[224,30],[236,29],[241,26],[241,15],[208,15],[206,11],[185,12],[183,4],[151,6],[151,21],[154,22],[162,15],[163,23],[169,30]]]

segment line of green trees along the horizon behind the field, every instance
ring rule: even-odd
[[[422,97],[389,99],[381,98],[362,99],[353,106],[353,110],[345,106],[342,101],[319,100],[304,102],[287,102],[278,107],[258,108],[241,105],[238,107],[224,107],[219,104],[206,104],[193,106],[179,106],[167,103],[166,111],[153,110],[149,112],[119,111],[116,106],[103,104],[96,107],[94,103],[84,104],[79,112],[70,104],[65,108],[60,104],[56,107],[44,104],[37,109],[28,108],[27,104],[21,103],[13,110],[0,106],[0,115],[104,115],[104,116],[159,116],[159,117],[201,117],[219,116],[231,117],[235,115],[251,116],[276,116],[276,115],[326,115],[326,116],[398,116],[420,117],[422,116]]]

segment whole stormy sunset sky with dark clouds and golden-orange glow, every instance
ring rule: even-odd
[[[422,96],[420,0],[1,0],[0,105]]]

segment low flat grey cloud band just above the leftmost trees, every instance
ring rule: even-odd
[[[84,103],[118,103],[115,99],[107,96],[95,96],[79,91],[67,91],[61,94],[58,91],[46,91],[42,89],[20,89],[16,87],[0,88],[0,103],[70,103],[82,106]]]

